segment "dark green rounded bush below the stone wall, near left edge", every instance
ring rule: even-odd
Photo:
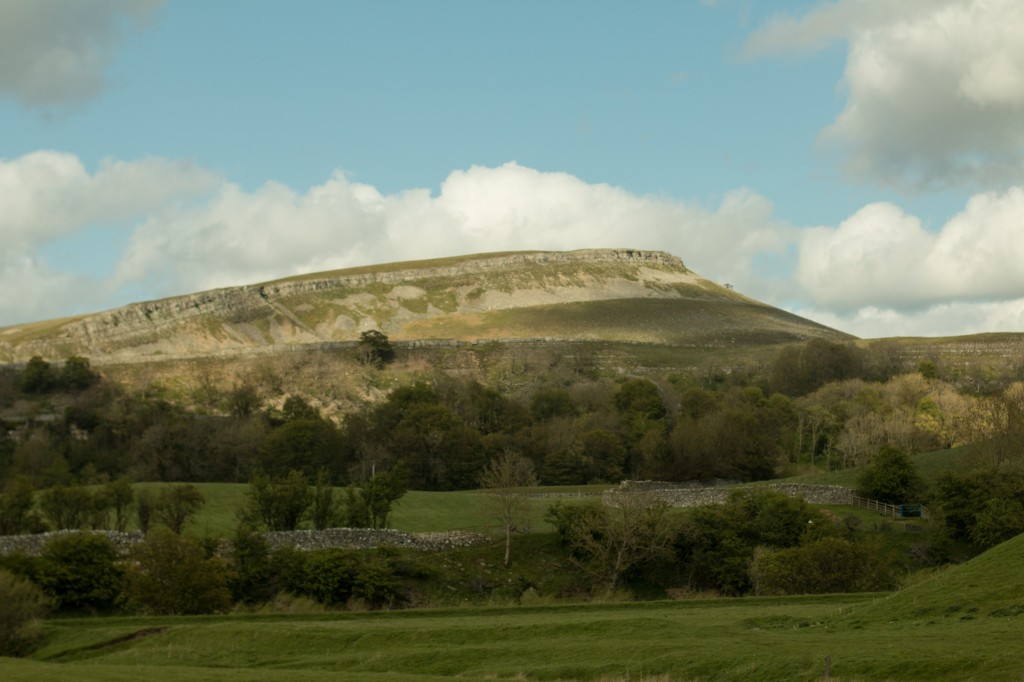
[[[57,536],[43,548],[37,582],[60,608],[109,609],[124,584],[117,560],[117,549],[105,536]]]

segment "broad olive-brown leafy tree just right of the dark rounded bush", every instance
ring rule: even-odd
[[[231,604],[227,567],[203,546],[169,528],[157,528],[132,549],[125,603],[155,615],[215,613]]]

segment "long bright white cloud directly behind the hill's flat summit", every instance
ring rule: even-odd
[[[384,196],[338,173],[305,194],[225,184],[209,203],[163,211],[136,230],[117,276],[183,292],[375,262],[627,246],[673,251],[742,288],[757,254],[792,241],[771,214],[746,190],[708,210],[515,163],[455,171],[437,196]]]

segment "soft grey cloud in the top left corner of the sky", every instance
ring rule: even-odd
[[[94,97],[127,29],[162,0],[5,0],[0,3],[0,97],[65,106]]]

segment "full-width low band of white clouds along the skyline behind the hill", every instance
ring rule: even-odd
[[[40,257],[104,221],[131,230],[116,272],[86,280]],[[19,292],[0,296],[0,324],[126,303],[128,292],[138,300],[388,261],[631,247],[669,251],[858,336],[1019,330],[1021,225],[1022,187],[975,196],[935,232],[891,204],[801,230],[745,189],[705,207],[515,163],[454,171],[435,195],[384,195],[343,173],[305,191],[276,182],[247,191],[178,162],[108,161],[89,173],[74,156],[38,153],[0,163],[0,238],[11,247],[0,253],[0,291]]]

